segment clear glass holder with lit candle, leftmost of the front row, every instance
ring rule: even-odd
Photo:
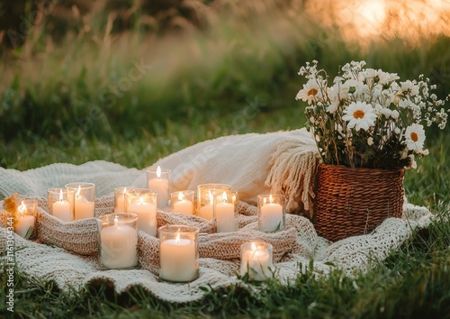
[[[130,213],[103,214],[98,222],[98,257],[106,269],[138,266],[138,216]]]

